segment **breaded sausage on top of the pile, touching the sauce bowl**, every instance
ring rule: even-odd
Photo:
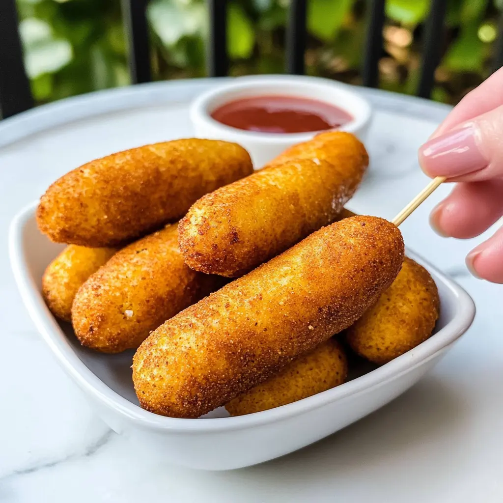
[[[352,134],[330,138],[325,147],[337,164],[289,160],[197,201],[180,222],[186,264],[205,273],[241,276],[336,220],[358,187],[368,156]]]

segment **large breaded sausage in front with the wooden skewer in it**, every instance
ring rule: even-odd
[[[377,217],[346,218],[154,330],[133,358],[142,407],[198,417],[350,326],[393,282],[403,240]]]

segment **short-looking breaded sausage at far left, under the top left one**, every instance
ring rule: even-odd
[[[58,318],[71,320],[71,303],[83,282],[105,265],[116,248],[86,248],[70,244],[47,266],[42,295]]]

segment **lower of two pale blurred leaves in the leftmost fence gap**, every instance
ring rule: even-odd
[[[30,78],[53,73],[67,65],[73,56],[66,40],[48,40],[25,51],[26,72]]]

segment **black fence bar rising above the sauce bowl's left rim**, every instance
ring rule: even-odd
[[[227,56],[227,1],[208,0],[210,33],[208,40],[208,74],[224,77],[229,71]]]

